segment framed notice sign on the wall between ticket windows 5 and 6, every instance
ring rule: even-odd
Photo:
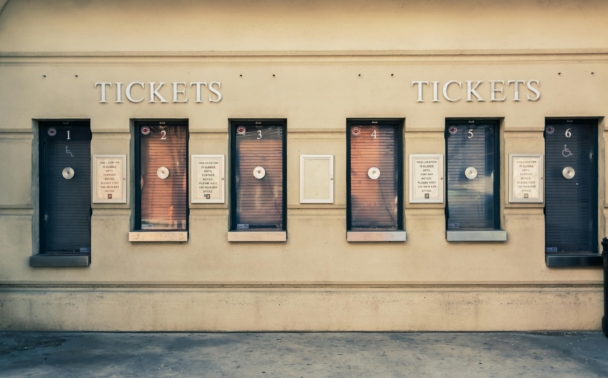
[[[509,154],[509,203],[543,203],[544,173],[542,154]]]

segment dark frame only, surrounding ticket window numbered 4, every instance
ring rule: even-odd
[[[346,230],[352,231],[352,210],[351,210],[351,128],[353,126],[395,126],[397,134],[397,142],[395,150],[397,152],[397,167],[399,178],[397,182],[397,230],[405,231],[404,227],[404,174],[403,169],[403,144],[405,132],[405,119],[403,118],[349,118],[346,120]],[[373,232],[390,232],[383,230],[370,230]]]

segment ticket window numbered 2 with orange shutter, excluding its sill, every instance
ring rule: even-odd
[[[135,129],[135,230],[187,231],[187,123],[142,121]]]

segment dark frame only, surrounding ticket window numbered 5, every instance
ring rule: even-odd
[[[502,134],[501,134],[501,119],[499,118],[447,118],[445,120],[445,129],[444,129],[444,140],[445,140],[445,172],[446,172],[446,178],[445,178],[445,210],[444,210],[444,215],[445,215],[445,229],[449,230],[449,231],[453,231],[453,232],[458,232],[459,230],[451,230],[448,228],[448,220],[449,220],[449,211],[450,211],[450,192],[448,190],[448,168],[449,168],[449,164],[450,164],[450,158],[449,158],[449,154],[448,154],[448,135],[449,135],[449,131],[448,129],[450,128],[450,126],[465,126],[465,125],[471,125],[471,124],[479,124],[479,123],[485,123],[485,124],[493,124],[494,125],[494,134],[496,135],[496,138],[494,138],[494,183],[492,185],[492,191],[493,191],[493,196],[494,196],[494,229],[493,230],[502,230],[502,225],[501,225],[501,203],[500,203],[500,178],[502,175],[502,170],[500,169],[501,166],[501,159],[500,159],[500,140],[502,138]],[[467,230],[467,229],[463,229],[462,231],[472,231],[472,230]],[[486,229],[486,230],[475,230],[475,231],[492,231],[492,229]]]

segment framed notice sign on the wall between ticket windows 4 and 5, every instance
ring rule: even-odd
[[[410,203],[443,203],[443,155],[410,155]]]

